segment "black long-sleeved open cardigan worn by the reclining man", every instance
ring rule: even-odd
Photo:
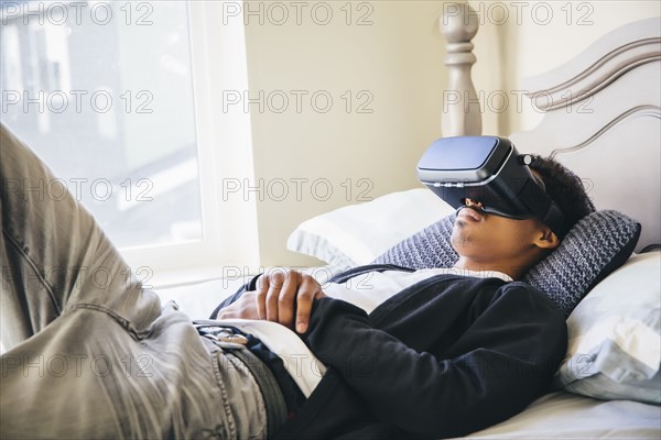
[[[369,316],[322,298],[302,337],[328,372],[277,438],[444,438],[539,397],[566,351],[561,311],[524,283],[437,275]]]

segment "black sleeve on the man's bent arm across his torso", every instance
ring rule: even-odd
[[[521,411],[564,356],[564,318],[539,296],[510,284],[488,307],[446,310],[470,324],[444,353],[413,350],[375,328],[361,309],[322,298],[304,341],[380,421],[412,436],[463,436]],[[425,326],[433,322],[420,331]]]

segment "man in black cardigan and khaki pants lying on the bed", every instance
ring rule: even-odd
[[[325,372],[303,393],[254,334],[161,308],[72,197],[26,190],[53,176],[1,125],[0,145],[2,438],[459,436],[523,409],[565,353],[562,314],[511,282],[560,238],[467,200],[455,268],[367,267],[324,287],[275,272],[214,312],[297,334]],[[539,161],[550,196],[576,213],[570,227],[592,205],[575,177]],[[112,274],[104,283],[90,276],[99,267]],[[357,307],[340,298],[360,274],[376,299]]]

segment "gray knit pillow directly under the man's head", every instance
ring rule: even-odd
[[[395,244],[373,263],[411,268],[452,267],[458,255],[449,244],[455,215],[448,216]],[[522,280],[545,294],[570,316],[598,282],[631,255],[640,223],[624,213],[605,210],[583,218],[560,246],[534,265]]]

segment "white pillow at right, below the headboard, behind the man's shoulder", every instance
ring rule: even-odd
[[[633,255],[567,319],[566,391],[661,404],[661,252]]]

